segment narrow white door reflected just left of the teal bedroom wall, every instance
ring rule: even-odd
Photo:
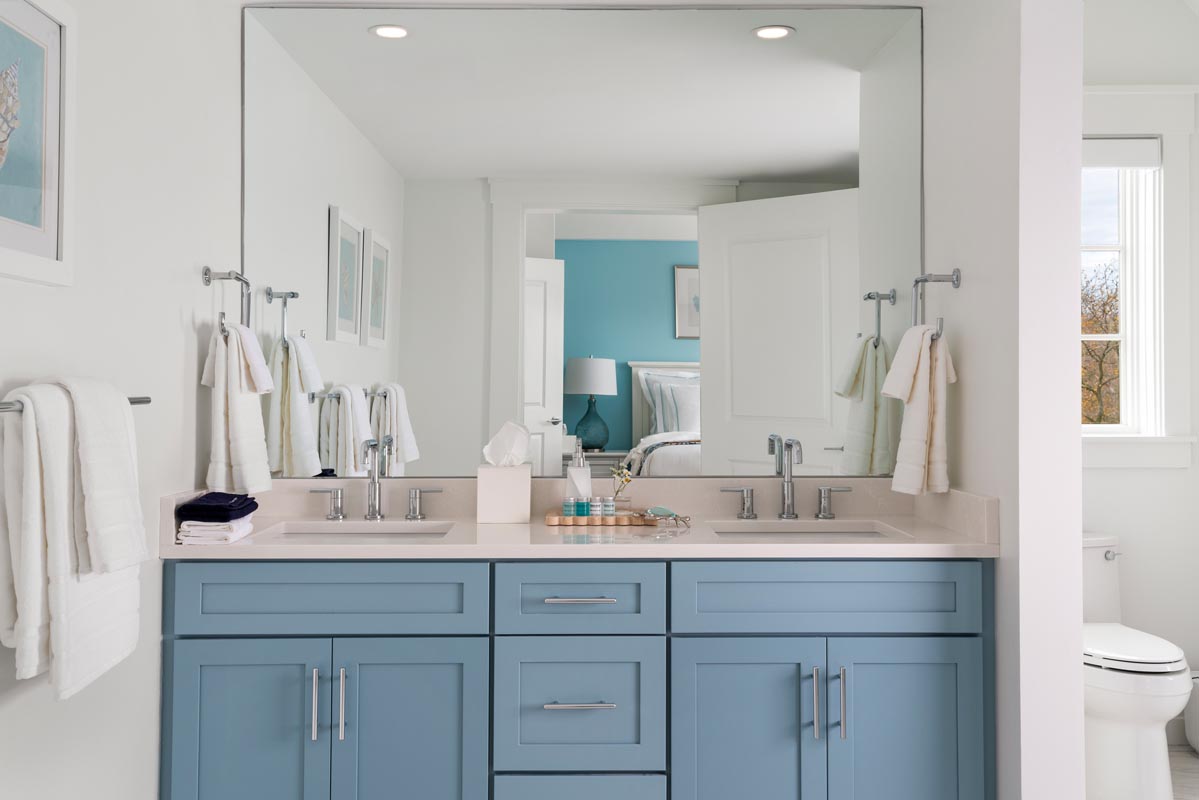
[[[524,423],[532,474],[562,474],[562,293],[565,261],[525,259]]]

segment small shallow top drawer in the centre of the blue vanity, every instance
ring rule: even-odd
[[[496,564],[496,633],[665,633],[665,564]]]

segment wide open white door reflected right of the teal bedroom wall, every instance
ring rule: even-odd
[[[833,369],[858,318],[857,190],[699,210],[704,475],[772,475],[766,437],[803,443],[829,474],[845,403]]]

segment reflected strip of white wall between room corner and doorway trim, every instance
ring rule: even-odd
[[[409,181],[399,381],[421,445],[409,475],[462,475],[486,431],[486,181]],[[432,391],[436,387],[436,391]]]

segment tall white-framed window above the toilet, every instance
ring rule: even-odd
[[[1083,163],[1084,432],[1158,435],[1161,144],[1087,139]]]

